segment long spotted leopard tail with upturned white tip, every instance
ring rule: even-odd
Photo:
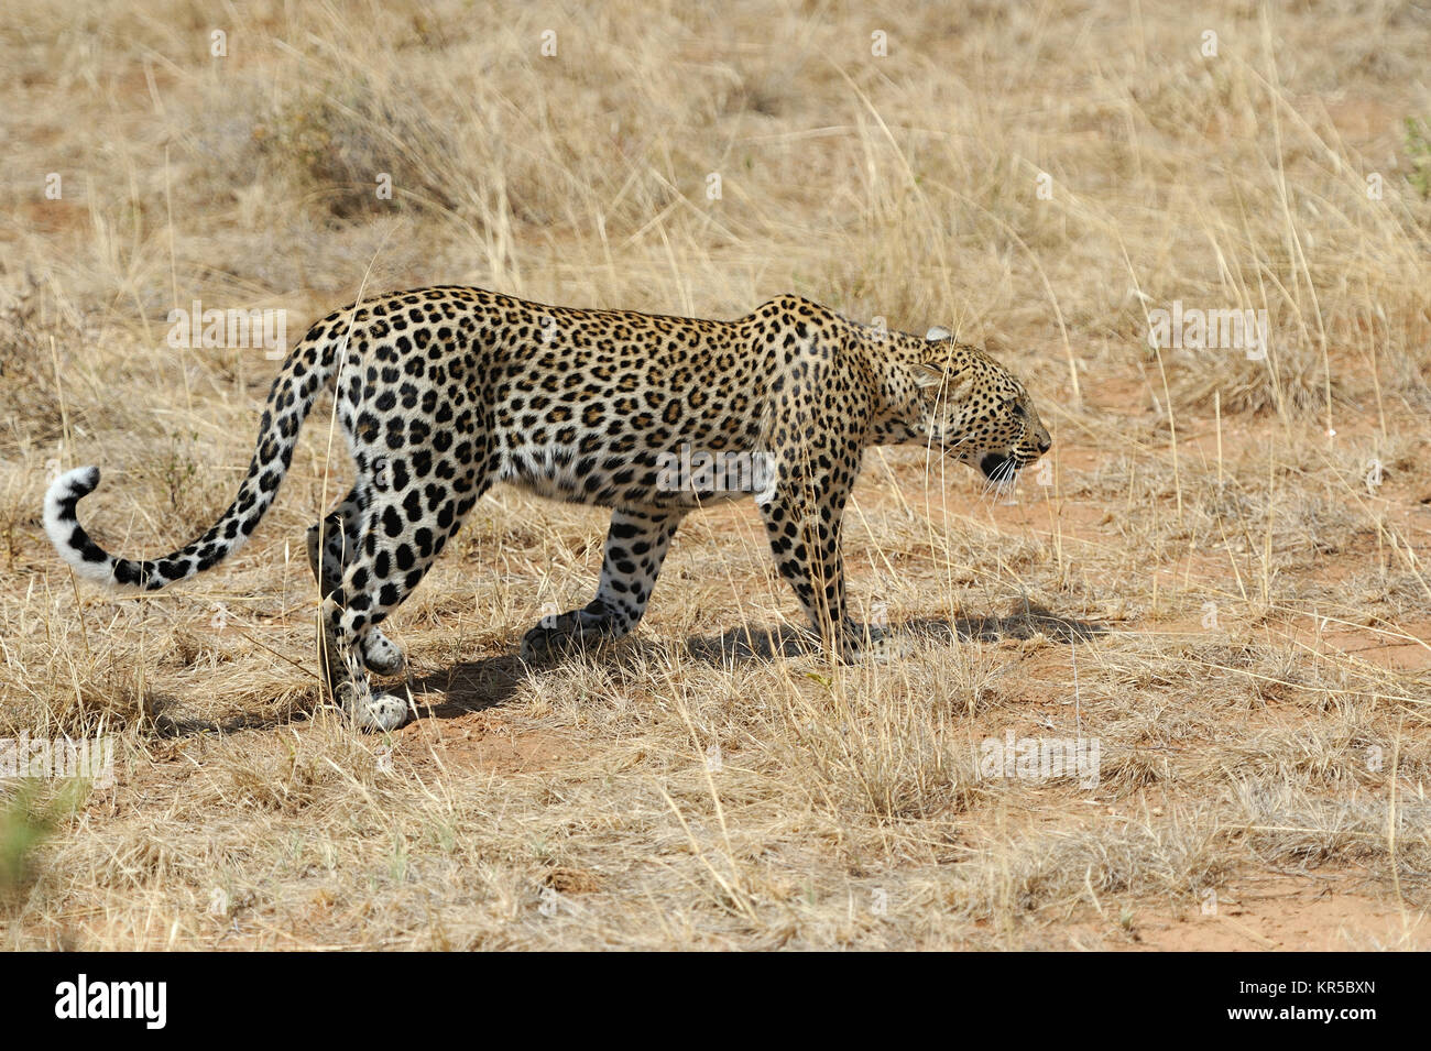
[[[273,503],[298,443],[298,430],[313,400],[346,352],[345,333],[329,333],[325,319],[293,347],[269,390],[249,473],[219,520],[197,539],[159,559],[126,559],[100,548],[79,523],[74,505],[94,492],[99,468],[77,468],[54,479],[44,493],[44,532],[74,572],[122,591],[159,591],[216,566],[249,539]],[[346,329],[338,325],[338,329]]]

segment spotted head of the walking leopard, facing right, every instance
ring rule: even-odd
[[[930,329],[914,359],[910,440],[942,449],[995,482],[1012,480],[1053,445],[1029,392],[979,347]]]

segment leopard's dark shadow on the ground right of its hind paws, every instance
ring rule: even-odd
[[[1079,621],[1042,606],[1020,603],[1005,616],[966,615],[952,621],[919,618],[884,629],[873,629],[871,635],[876,639],[903,636],[949,643],[956,641],[1029,639],[1042,633],[1053,642],[1072,643],[1102,635],[1106,631],[1106,625],[1093,621]],[[608,653],[598,655],[595,659],[631,661],[644,656],[674,655],[690,656],[703,663],[730,666],[750,661],[771,661],[776,656],[800,656],[810,652],[813,652],[813,646],[807,632],[790,626],[756,628],[744,625],[720,635],[693,636],[680,643],[635,638],[612,646]],[[419,701],[418,714],[422,718],[452,719],[495,708],[511,698],[517,692],[518,684],[528,675],[541,675],[558,666],[561,662],[528,665],[515,653],[501,653],[477,661],[461,661],[451,668],[415,676],[408,681],[406,686],[414,696],[442,695],[442,699],[431,706]]]

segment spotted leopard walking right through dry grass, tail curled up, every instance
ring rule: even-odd
[[[329,392],[355,482],[306,533],[319,679],[366,731],[416,711],[372,684],[405,669],[381,625],[498,482],[611,509],[595,596],[532,626],[525,662],[630,635],[685,515],[740,496],[756,500],[804,635],[857,659],[869,633],[850,615],[840,536],[864,452],[919,443],[995,485],[1052,446],[1023,383],[944,327],[867,325],[793,293],[708,320],[445,285],[359,299],[312,325],[272,383],[233,500],[195,541],[153,559],[104,551],[77,518],[100,480],[84,466],[46,492],[50,542],[80,579],[130,593],[215,568],[259,526]],[[750,455],[760,483],[681,478],[670,468],[691,450]]]

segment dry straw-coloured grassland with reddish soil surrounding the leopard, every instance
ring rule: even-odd
[[[0,26],[0,736],[119,741],[113,786],[0,788],[0,945],[1199,947],[1209,891],[1232,947],[1428,945],[1422,10],[235,17]],[[786,645],[744,505],[688,520],[628,645],[527,669],[602,515],[494,492],[391,622],[422,718],[385,738],[316,706],[322,426],[220,572],[73,586],[53,469],[104,468],[87,520],[137,555],[246,463],[275,365],[170,349],[170,307],[293,339],[436,282],[950,325],[1026,378],[1050,470],[1006,503],[869,458],[846,556],[896,656],[856,668]],[[1265,310],[1268,360],[1151,349],[1173,300]],[[1010,732],[1096,739],[1098,784],[987,776]]]

